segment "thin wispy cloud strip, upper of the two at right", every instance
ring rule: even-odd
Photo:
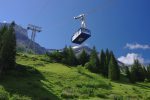
[[[132,43],[132,44],[127,43],[125,48],[129,48],[131,50],[134,50],[134,49],[150,49],[150,46],[147,45],[147,44],[142,45],[142,44],[138,44],[138,43]]]

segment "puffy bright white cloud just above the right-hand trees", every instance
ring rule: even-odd
[[[123,62],[127,65],[132,65],[135,59],[139,60],[140,63],[144,64],[144,58],[142,58],[141,55],[136,53],[128,53],[126,56],[121,56],[118,58],[120,62]]]

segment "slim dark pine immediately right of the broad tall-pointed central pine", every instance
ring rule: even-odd
[[[108,69],[107,69],[107,66],[106,66],[106,55],[105,55],[105,52],[103,50],[101,50],[101,54],[100,54],[99,71],[104,76],[107,76],[107,74],[108,74]]]

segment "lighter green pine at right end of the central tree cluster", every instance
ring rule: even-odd
[[[119,69],[117,60],[115,59],[113,52],[111,52],[111,58],[109,62],[108,78],[110,80],[119,80],[120,78],[120,69]]]

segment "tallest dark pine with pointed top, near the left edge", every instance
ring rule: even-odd
[[[1,47],[2,66],[4,70],[15,67],[16,56],[16,35],[13,22],[9,29],[3,34],[3,43]]]

